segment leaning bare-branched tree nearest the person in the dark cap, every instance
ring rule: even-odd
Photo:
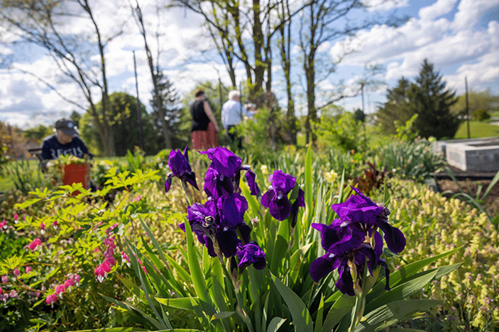
[[[106,45],[121,34],[120,24],[104,35],[89,0],[1,0],[1,21],[26,42],[45,48],[60,72],[74,81],[89,103],[106,156],[114,156],[114,119],[109,116]],[[85,18],[89,32],[70,33],[72,19]],[[92,62],[92,55],[99,55]],[[98,69],[97,71],[95,69]],[[99,91],[97,97],[95,89]],[[102,99],[99,114],[95,99]]]

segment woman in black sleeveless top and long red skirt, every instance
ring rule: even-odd
[[[204,96],[204,91],[197,89],[194,93],[196,101],[190,107],[192,115],[191,145],[192,149],[206,151],[219,146],[217,133],[220,132],[216,124],[212,108]]]

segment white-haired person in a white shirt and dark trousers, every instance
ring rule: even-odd
[[[229,101],[226,101],[221,107],[221,125],[226,130],[229,142],[236,142],[238,149],[243,148],[242,137],[239,137],[234,126],[238,125],[245,116],[252,118],[253,113],[249,113],[241,105],[241,93],[237,90],[232,90],[229,92]]]

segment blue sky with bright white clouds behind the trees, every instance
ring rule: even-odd
[[[106,46],[109,91],[136,96],[135,53],[138,96],[148,106],[153,87],[143,40],[131,19],[126,0],[123,6],[116,5],[119,2],[102,1],[104,5],[96,12],[104,34],[112,35],[119,28],[125,31]],[[146,17],[146,28],[150,31],[148,42],[153,54],[157,46],[152,33],[159,30],[160,49],[163,50],[160,64],[181,96],[202,81],[220,79],[223,84],[230,85],[220,59],[213,52],[199,52],[209,50],[212,45],[202,35],[204,28],[200,16],[183,8],[174,8],[160,13],[158,18],[153,6],[155,0],[139,2]],[[425,58],[442,74],[447,87],[458,94],[465,91],[465,78],[468,88],[473,91],[490,88],[492,93],[499,94],[499,0],[369,0],[369,3],[372,7],[358,13],[359,17],[383,17],[395,13],[409,19],[396,28],[375,25],[359,31],[352,40],[336,40],[322,45],[321,50],[331,61],[343,54],[345,48],[353,52],[343,57],[327,80],[319,82],[318,94],[332,90],[340,83],[354,89],[356,82],[366,77],[366,65],[379,65],[383,71],[372,78],[380,84],[377,88],[367,88],[364,94],[364,110],[373,113],[376,105],[386,100],[386,88],[395,86],[402,76],[414,79]],[[71,18],[67,23],[67,33],[84,33],[88,29],[88,23],[83,19]],[[78,86],[61,79],[53,59],[43,49],[11,43],[16,41],[16,36],[1,26],[0,36],[4,40],[0,43],[0,121],[28,128],[53,125],[55,120],[68,116],[73,110],[84,112],[88,104]],[[6,58],[9,62],[2,64],[2,59]],[[237,73],[242,72],[243,68],[238,67]],[[300,79],[295,81],[297,111],[304,113],[306,108]],[[47,84],[55,90],[48,88]],[[278,98],[283,98],[283,91],[278,87],[275,89]],[[82,105],[82,108],[65,99]],[[321,102],[320,98],[318,102]],[[362,105],[360,96],[344,98],[338,104],[350,111]],[[281,106],[285,108],[284,103]]]

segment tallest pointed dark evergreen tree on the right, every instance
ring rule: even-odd
[[[446,89],[446,82],[427,59],[424,59],[420,76],[417,76],[416,84],[412,84],[408,97],[418,115],[415,129],[422,137],[454,137],[460,124],[459,118],[451,113],[451,105],[457,102],[456,91]]]

